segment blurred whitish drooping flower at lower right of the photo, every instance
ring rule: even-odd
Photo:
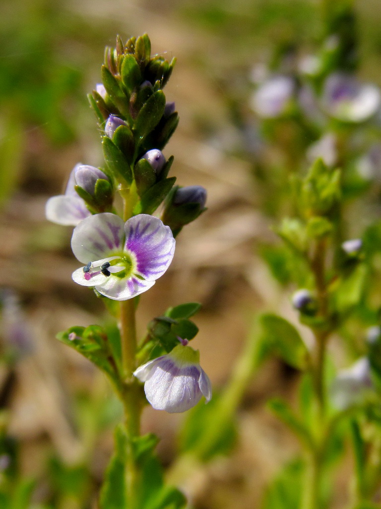
[[[362,403],[373,390],[369,359],[361,357],[348,369],[339,371],[330,392],[334,406],[344,410]]]

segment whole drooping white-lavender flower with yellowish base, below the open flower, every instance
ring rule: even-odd
[[[200,366],[200,353],[177,345],[169,354],[150,360],[134,372],[144,382],[147,400],[156,410],[179,413],[212,397],[210,380]]]

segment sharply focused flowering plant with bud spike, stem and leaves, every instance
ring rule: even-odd
[[[189,318],[199,304],[167,309],[148,324],[140,342],[135,328],[136,297],[164,275],[175,253],[175,237],[205,210],[206,190],[174,187],[175,177],[168,177],[173,157],[162,152],[178,124],[175,105],[163,92],[174,64],[175,59],[151,56],[146,34],[125,44],[117,37],[116,47],[106,48],[103,82],[89,95],[104,163],[77,164],[65,194],[46,205],[49,220],[75,227],[71,245],[82,266],[73,280],[106,304],[116,301],[116,306],[108,305],[118,323],[116,344],[98,325],[58,334],[106,373],[123,403],[124,423],[115,433],[102,509],[184,506],[184,496],[164,485],[153,452],[155,437],[140,436],[140,414],[147,400],[156,409],[184,412],[203,396],[206,402],[211,398],[199,352],[188,345],[198,332]],[[163,203],[161,217],[153,215]]]

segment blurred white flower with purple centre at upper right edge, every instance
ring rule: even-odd
[[[323,106],[328,115],[343,122],[363,122],[373,116],[381,102],[380,91],[354,76],[335,73],[324,84]]]

